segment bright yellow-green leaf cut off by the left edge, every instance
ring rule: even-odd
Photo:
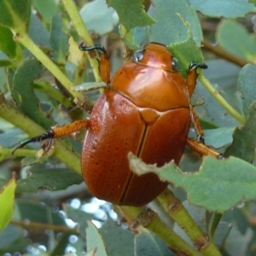
[[[9,180],[3,189],[0,191],[0,206],[2,210],[0,211],[0,231],[2,231],[14,214],[14,203],[15,203],[15,189],[16,181],[15,177]]]

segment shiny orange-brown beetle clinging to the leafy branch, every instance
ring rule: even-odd
[[[205,64],[191,62],[187,78],[183,79],[166,46],[149,43],[110,79],[106,50],[98,45],[79,48],[97,50],[102,80],[108,84],[90,119],[51,128],[17,148],[86,129],[81,163],[91,194],[116,205],[134,207],[153,201],[168,183],[154,173],[139,177],[131,172],[129,152],[157,166],[171,160],[178,164],[186,145],[201,155],[219,157],[218,152],[204,145],[199,119],[189,103],[195,90],[196,70],[207,68]],[[191,124],[198,140],[188,137]]]

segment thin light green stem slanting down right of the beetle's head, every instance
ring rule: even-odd
[[[215,90],[212,84],[209,82],[209,80],[201,74],[199,76],[199,80],[201,81],[201,84],[209,91],[209,93],[212,95],[212,97],[224,108],[228,113],[230,113],[231,116],[233,116],[235,119],[237,119],[241,124],[245,123],[245,117],[241,115],[241,113],[238,113],[235,108],[232,108],[228,102],[224,99],[223,96],[221,96],[218,93],[218,90]]]

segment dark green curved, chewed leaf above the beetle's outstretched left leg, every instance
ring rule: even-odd
[[[13,93],[13,96],[15,96],[15,102],[23,113],[26,113],[28,117],[45,129],[49,129],[51,122],[38,109],[38,99],[32,89],[32,82],[34,79],[38,79],[41,68],[41,64],[36,60],[27,59],[23,61],[15,72],[13,81],[15,93]],[[17,93],[19,96],[16,95]]]

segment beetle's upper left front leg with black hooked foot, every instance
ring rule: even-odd
[[[106,49],[102,45],[84,46],[83,43],[79,45],[79,49],[84,51],[96,50],[100,55],[99,59],[99,71],[102,77],[102,81],[110,83],[110,61]]]

